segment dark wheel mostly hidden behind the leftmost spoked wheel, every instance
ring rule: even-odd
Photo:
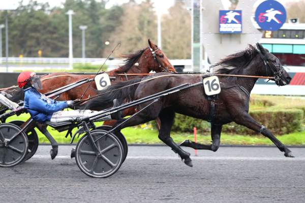
[[[11,121],[9,123],[15,124],[20,127],[22,124],[24,124],[24,121]],[[25,134],[27,135],[27,139],[28,139],[28,150],[24,158],[24,161],[31,159],[34,156],[34,154],[38,149],[38,144],[39,144],[38,135],[34,128],[26,131]]]

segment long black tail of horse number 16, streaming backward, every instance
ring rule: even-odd
[[[120,102],[126,99],[128,101],[133,100],[135,91],[139,85],[137,84],[137,82],[139,81],[141,81],[141,78],[135,78],[132,80],[118,82],[116,84],[110,85],[108,86],[108,88],[102,91],[98,91],[98,94],[101,96],[85,102],[84,104],[79,106],[79,108],[102,110],[111,107],[113,105],[114,99],[118,99]]]

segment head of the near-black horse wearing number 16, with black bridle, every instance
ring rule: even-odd
[[[279,86],[289,84],[291,77],[283,68],[280,60],[270,53],[268,49],[265,49],[260,43],[256,43],[256,47],[260,58],[264,63],[264,69],[261,74],[274,77],[271,80],[275,81]]]

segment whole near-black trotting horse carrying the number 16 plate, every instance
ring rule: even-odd
[[[284,70],[277,57],[264,49],[261,44],[257,43],[257,48],[252,45],[246,50],[231,54],[218,63],[221,66],[216,74],[233,74],[247,76],[273,76],[279,86],[289,84],[291,77]],[[168,77],[159,77],[168,75]],[[109,86],[102,97],[97,97],[89,100],[86,105],[103,105],[106,101],[112,101],[118,95],[122,99],[128,98],[137,100],[145,96],[149,96],[174,86],[184,83],[196,83],[202,81],[202,76],[179,75],[172,76],[171,73],[157,73],[150,75],[145,79],[155,78],[153,80],[137,83],[141,79],[133,81],[120,82],[114,86]],[[202,119],[211,122],[211,139],[212,144],[205,145],[195,143],[190,140],[182,142],[181,146],[191,147],[194,149],[211,150],[216,152],[220,146],[220,136],[222,125],[230,122],[235,122],[245,126],[262,135],[268,137],[280,151],[284,152],[286,157],[293,157],[291,151],[284,146],[265,126],[255,121],[249,114],[250,93],[258,78],[255,77],[236,77],[236,76],[219,76],[221,92],[218,99],[215,100],[215,109],[211,120],[211,101],[207,99],[203,85],[194,86],[193,88],[179,91],[177,93],[160,98],[157,102],[151,104],[143,111],[139,112],[132,119],[126,121],[118,121],[115,126],[123,123],[117,130],[136,126],[148,121],[154,120],[157,117],[161,120],[161,129],[159,130],[159,138],[167,144],[172,150],[184,160],[188,166],[193,166],[190,158],[190,153],[182,150],[170,137],[171,127],[174,122],[175,112],[188,115],[197,119]],[[137,83],[111,93],[108,91],[122,88],[127,84]],[[137,110],[143,109],[148,103],[140,104]]]

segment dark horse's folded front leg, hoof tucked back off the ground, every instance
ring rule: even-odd
[[[211,150],[213,152],[216,152],[220,145],[220,134],[222,130],[222,125],[215,125],[211,124],[211,138],[212,138],[212,144],[200,144],[197,142],[193,142],[189,139],[186,139],[183,141],[180,146],[184,147],[190,147],[195,150]]]

